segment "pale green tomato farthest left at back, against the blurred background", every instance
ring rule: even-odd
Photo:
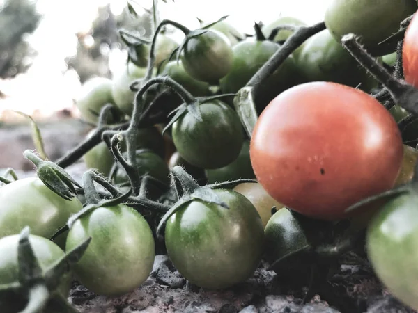
[[[115,104],[111,87],[111,80],[105,77],[94,77],[83,84],[75,103],[84,120],[97,124],[102,107],[106,104]]]

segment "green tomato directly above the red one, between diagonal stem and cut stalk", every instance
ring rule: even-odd
[[[369,91],[378,81],[359,66],[357,60],[325,29],[305,42],[297,59],[305,81],[333,81]]]

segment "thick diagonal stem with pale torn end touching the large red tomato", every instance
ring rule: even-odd
[[[270,60],[266,62],[253,77],[251,77],[247,85],[236,93],[233,99],[233,105],[235,106],[235,111],[237,111],[249,138],[251,138],[252,131],[258,118],[254,100],[258,87],[261,86],[263,81],[268,79],[268,77],[270,77],[282,63],[284,63],[286,58],[288,58],[288,56],[290,56],[292,52],[297,49],[297,47],[302,45],[302,43],[309,37],[323,31],[324,29],[324,22],[320,22],[309,27],[301,26],[272,55]]]

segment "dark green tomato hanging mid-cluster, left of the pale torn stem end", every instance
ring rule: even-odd
[[[237,113],[219,100],[200,105],[203,121],[185,113],[173,124],[178,153],[199,168],[220,168],[234,161],[242,147],[242,125]]]

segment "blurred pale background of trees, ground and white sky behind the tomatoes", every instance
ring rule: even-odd
[[[131,10],[127,8],[129,1]],[[88,131],[75,99],[91,77],[112,78],[127,61],[117,29],[150,38],[152,0],[0,0],[0,168],[31,170],[22,157],[33,149],[28,121],[40,126],[50,159],[75,147]],[[268,24],[291,15],[307,24],[323,19],[330,0],[167,0],[160,19],[194,29],[197,18],[214,22],[223,15],[243,33],[254,22]],[[245,4],[244,4],[245,3]],[[132,8],[139,18],[134,18]],[[169,29],[170,32],[170,29]],[[183,33],[171,33],[178,41]],[[58,123],[57,123],[58,121]],[[63,140],[63,136],[65,140]]]

